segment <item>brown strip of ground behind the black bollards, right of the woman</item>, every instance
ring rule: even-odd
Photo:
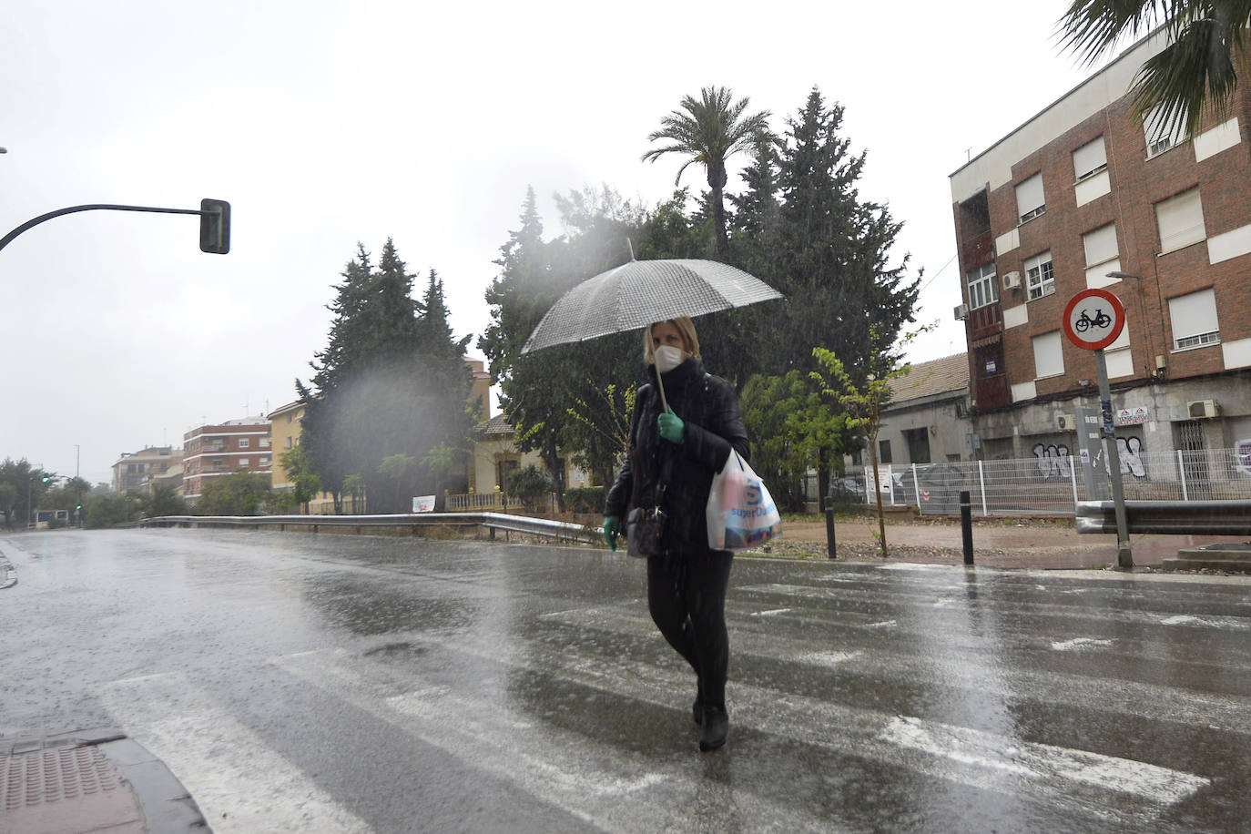
[[[1116,566],[1116,536],[1078,534],[1070,524],[1043,519],[975,519],[973,564],[986,568],[1036,568],[1083,570]],[[882,560],[873,516],[834,523],[837,558],[847,561]],[[1158,570],[1165,558],[1185,548],[1243,543],[1227,535],[1131,535],[1135,568]],[[887,560],[927,564],[963,564],[963,534],[958,520],[888,519]],[[774,553],[826,555],[824,521],[783,523]]]

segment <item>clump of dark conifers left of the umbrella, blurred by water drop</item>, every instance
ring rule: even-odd
[[[452,336],[443,284],[433,270],[423,301],[412,298],[413,275],[392,240],[377,268],[358,246],[343,279],[311,385],[296,380],[309,471],[335,496],[337,513],[353,475],[359,481],[350,491],[365,498],[354,506],[407,511],[409,496],[440,486],[425,463],[429,453],[467,445],[473,424],[467,405],[473,376],[464,363],[469,338]],[[384,470],[383,461],[394,455],[414,464]]]

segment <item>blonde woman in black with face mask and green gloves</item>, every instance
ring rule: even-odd
[[[726,591],[733,554],[709,549],[704,508],[713,475],[731,450],[747,459],[747,431],[734,390],[704,371],[691,319],[659,321],[643,336],[651,381],[634,401],[629,455],[604,508],[604,539],[617,549],[631,509],[663,513],[657,553],[647,559],[648,608],[661,634],[696,671],[699,749],[716,750],[729,731]]]

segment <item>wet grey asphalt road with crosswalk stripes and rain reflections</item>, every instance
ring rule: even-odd
[[[729,744],[620,554],[0,538],[0,734],[120,726],[225,831],[1231,831],[1251,583],[739,558]]]

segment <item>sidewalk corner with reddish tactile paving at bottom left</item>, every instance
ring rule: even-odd
[[[0,834],[209,831],[160,760],[100,729],[0,743]]]

